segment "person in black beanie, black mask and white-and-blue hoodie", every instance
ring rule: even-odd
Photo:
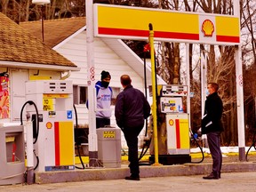
[[[110,125],[112,111],[110,109],[112,99],[112,88],[109,85],[111,76],[108,71],[103,70],[100,81],[95,84],[96,89],[96,128]],[[88,101],[86,102],[88,108]]]

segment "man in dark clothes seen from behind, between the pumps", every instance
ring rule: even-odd
[[[130,76],[120,78],[124,92],[120,92],[116,99],[116,124],[124,132],[124,138],[129,148],[128,160],[130,162],[131,176],[125,180],[140,180],[138,159],[138,135],[144,126],[145,119],[150,115],[150,106],[144,94],[132,87]]]

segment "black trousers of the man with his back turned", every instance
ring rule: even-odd
[[[138,158],[138,136],[143,128],[142,126],[124,127],[124,138],[128,146],[128,161],[130,162],[130,172],[132,176],[140,175],[139,158]]]

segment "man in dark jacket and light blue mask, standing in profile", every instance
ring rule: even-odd
[[[223,104],[218,95],[219,85],[208,84],[209,95],[205,100],[204,117],[202,120],[202,134],[206,134],[209,149],[212,155],[212,172],[203,177],[204,180],[219,180],[222,164],[222,154],[220,150],[220,133],[223,132],[221,116]]]

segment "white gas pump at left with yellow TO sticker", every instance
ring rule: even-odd
[[[37,172],[75,169],[73,86],[71,81],[38,80],[26,82],[27,116],[33,123],[34,164]],[[39,127],[36,128],[37,120]]]

